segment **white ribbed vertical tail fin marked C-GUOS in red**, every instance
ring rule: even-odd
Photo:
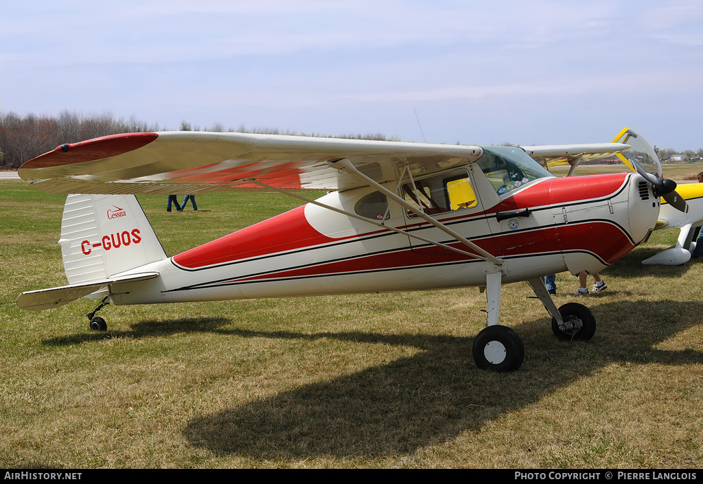
[[[104,281],[166,258],[134,195],[67,196],[58,243],[69,284]]]

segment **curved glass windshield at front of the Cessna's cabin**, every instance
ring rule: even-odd
[[[484,155],[476,162],[498,195],[515,190],[532,180],[554,175],[513,146],[483,147]]]

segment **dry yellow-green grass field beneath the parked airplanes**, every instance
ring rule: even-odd
[[[476,288],[426,293],[25,312],[66,284],[63,196],[0,182],[0,468],[699,468],[703,264],[643,266],[656,232],[601,275],[593,340],[565,343],[527,284],[501,323],[525,361],[475,367]],[[167,215],[140,197],[167,254],[297,205],[206,194]],[[592,284],[592,283],[591,283]],[[577,286],[557,274],[557,305]]]

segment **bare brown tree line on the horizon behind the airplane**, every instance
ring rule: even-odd
[[[186,122],[181,122],[181,131],[200,131]],[[321,136],[332,137],[327,134],[310,134],[297,132],[280,132],[278,129],[238,129],[225,130],[221,125],[215,124],[206,131],[212,132],[243,132],[266,134],[289,134],[296,136]],[[0,115],[0,169],[16,170],[22,163],[34,157],[52,151],[56,146],[65,143],[77,143],[86,139],[99,138],[110,134],[158,132],[163,131],[158,125],[148,125],[132,118],[129,121],[114,120],[112,115],[91,115],[84,117],[77,113],[63,111],[58,117],[38,116],[34,114],[24,117],[15,113]],[[346,139],[374,139],[378,141],[401,141],[396,136],[384,134],[345,134],[335,136]],[[662,162],[673,162],[677,158],[684,160],[703,159],[703,148],[692,151],[676,151],[659,148],[659,159]],[[678,155],[678,156],[677,156]]]

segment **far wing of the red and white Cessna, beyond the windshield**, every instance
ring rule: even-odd
[[[630,149],[630,145],[622,143],[596,143],[596,144],[563,144],[546,146],[520,146],[537,163],[545,167],[557,165],[572,165],[572,174],[582,160],[600,160],[614,156]]]

